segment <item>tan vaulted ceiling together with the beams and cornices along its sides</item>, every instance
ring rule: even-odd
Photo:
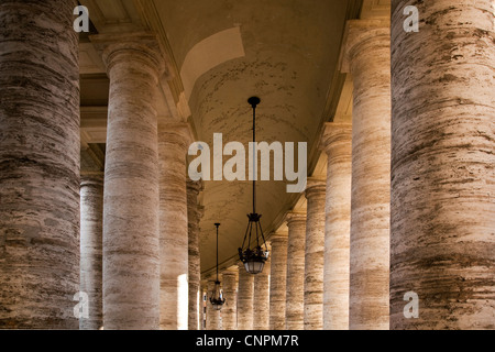
[[[188,122],[198,141],[248,143],[258,96],[257,140],[307,142],[310,175],[322,174],[318,141],[336,114],[349,117],[349,84],[338,73],[346,19],[382,11],[371,0],[81,0],[92,33],[153,31],[167,52],[169,73],[161,82],[160,119]],[[389,2],[389,1],[388,1]],[[384,4],[385,3],[385,4]],[[109,81],[90,35],[81,35],[81,166],[102,170]],[[342,92],[348,90],[345,99]],[[352,87],[351,87],[352,91]],[[227,161],[229,157],[226,157]],[[273,176],[272,176],[273,179]],[[220,262],[237,260],[248,226],[252,188],[248,182],[206,182],[201,202],[201,271],[216,265],[215,222],[220,228]],[[285,182],[258,182],[258,212],[266,234],[284,215],[304,208]]]

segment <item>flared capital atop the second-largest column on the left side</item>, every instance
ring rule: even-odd
[[[156,34],[151,32],[109,33],[90,36],[91,43],[101,53],[103,63],[110,74],[112,67],[121,62],[134,62],[155,69],[157,79],[168,69],[165,51],[162,48]]]

